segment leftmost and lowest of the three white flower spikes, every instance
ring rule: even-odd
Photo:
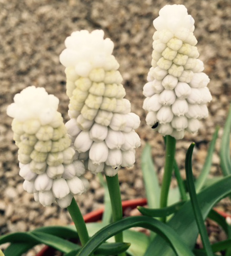
[[[88,182],[82,177],[82,161],[73,160],[75,150],[61,114],[59,100],[44,88],[28,87],[14,96],[7,108],[13,117],[14,140],[19,147],[23,188],[43,206],[57,202],[69,206],[73,195],[82,194]]]

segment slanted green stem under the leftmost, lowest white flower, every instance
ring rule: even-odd
[[[83,215],[81,214],[78,204],[76,203],[74,198],[72,199],[70,205],[67,207],[67,210],[69,211],[69,214],[72,217],[72,220],[75,224],[76,231],[78,233],[81,244],[82,246],[84,246],[86,242],[89,240],[89,235],[87,232],[86,224],[83,219]]]

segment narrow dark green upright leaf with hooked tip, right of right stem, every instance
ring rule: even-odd
[[[186,158],[185,158],[185,172],[186,172],[186,182],[189,189],[189,195],[191,199],[192,209],[194,212],[195,219],[197,221],[197,226],[199,229],[199,233],[201,235],[201,240],[203,243],[203,248],[206,251],[206,255],[214,255],[212,253],[212,248],[209,242],[209,237],[207,234],[206,226],[204,224],[204,220],[200,211],[200,206],[197,199],[197,193],[193,181],[193,174],[192,174],[192,152],[194,148],[195,143],[192,143],[186,152]]]

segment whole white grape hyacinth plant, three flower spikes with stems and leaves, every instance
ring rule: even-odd
[[[211,101],[209,78],[203,73],[193,35],[194,20],[183,5],[166,5],[154,20],[154,27],[152,67],[143,90],[143,108],[147,111],[147,124],[164,136],[166,156],[161,187],[148,144],[141,156],[149,208],[138,209],[144,216],[122,219],[118,171],[126,172],[120,168],[135,163],[135,149],[140,146],[135,129],[140,120],[131,113],[130,102],[124,98],[119,64],[112,55],[113,42],[103,38],[102,30],[75,31],[65,40],[66,49],[60,54],[67,78],[70,120],[63,123],[57,111],[59,100],[54,95],[33,86],[15,95],[7,114],[13,117],[23,188],[43,206],[56,202],[67,208],[77,232],[74,227],[56,226],[4,235],[0,243],[11,242],[4,251],[6,256],[21,255],[39,243],[50,245],[65,256],[214,255],[220,250],[229,255],[231,229],[212,207],[231,193],[231,178],[206,184],[218,130],[196,182],[191,167],[194,144],[189,147],[185,157],[187,189],[175,160],[176,141],[183,139],[185,132],[198,131],[200,120],[208,116],[207,103]],[[231,111],[221,144],[221,168],[226,175],[231,166],[226,153],[230,116]],[[176,203],[171,204],[168,194],[173,192],[173,170],[180,192],[175,194]],[[112,220],[105,205],[102,223],[91,226],[84,223],[74,198],[87,193],[87,171],[105,175],[112,209]],[[208,215],[224,228],[226,241],[210,245],[203,223]],[[128,230],[136,226],[153,233],[147,236]],[[195,249],[198,233],[202,250]],[[77,237],[78,244],[64,239]]]

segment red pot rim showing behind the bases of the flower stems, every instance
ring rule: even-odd
[[[138,198],[138,199],[130,199],[126,201],[122,201],[122,209],[123,211],[130,207],[131,209],[136,208],[137,206],[145,206],[147,204],[146,198]],[[92,212],[89,212],[88,214],[85,214],[83,216],[83,219],[85,223],[91,223],[98,221],[102,219],[104,208],[94,210]],[[36,256],[50,256],[51,252],[55,251],[53,248],[50,248],[49,246],[45,245],[42,250],[36,254]]]

